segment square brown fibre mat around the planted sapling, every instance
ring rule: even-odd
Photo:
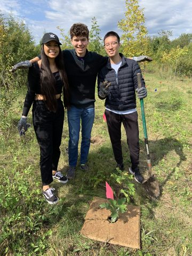
[[[115,223],[110,223],[110,211],[101,209],[107,199],[94,197],[86,214],[81,234],[91,239],[140,249],[140,206],[127,205]]]

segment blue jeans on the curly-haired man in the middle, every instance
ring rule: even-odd
[[[82,124],[80,162],[81,164],[85,164],[90,149],[91,130],[94,122],[94,108],[76,108],[71,106],[67,111],[67,117],[69,126],[69,166],[77,165],[80,121]]]

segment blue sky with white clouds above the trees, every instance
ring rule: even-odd
[[[161,30],[172,30],[172,38],[192,33],[192,1],[190,0],[139,0],[144,8],[145,26],[150,36]],[[0,11],[23,20],[38,44],[45,32],[59,37],[58,26],[68,33],[73,23],[85,23],[91,29],[91,20],[97,19],[103,37],[114,30],[122,30],[118,21],[125,18],[125,0],[1,0]]]

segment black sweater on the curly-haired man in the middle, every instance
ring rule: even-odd
[[[107,63],[108,58],[86,51],[81,60],[74,49],[62,53],[69,82],[70,105],[77,108],[94,107],[98,71]]]

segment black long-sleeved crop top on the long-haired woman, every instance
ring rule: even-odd
[[[55,91],[56,94],[62,93],[63,82],[61,80],[59,71],[53,73],[53,76],[56,80]],[[26,94],[22,116],[27,116],[29,109],[35,99],[36,94],[41,93],[41,84],[40,84],[40,69],[38,63],[35,62],[28,72],[28,91]]]

